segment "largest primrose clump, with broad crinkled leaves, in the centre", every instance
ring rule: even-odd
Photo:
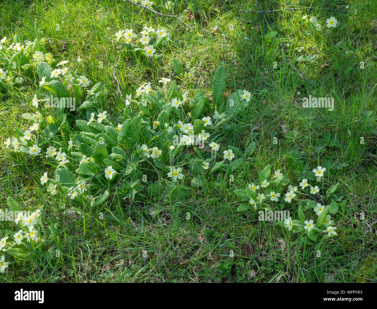
[[[48,81],[52,71],[46,63],[39,74],[46,90],[57,92],[61,84],[64,91],[81,91],[83,83],[65,86],[59,74]],[[220,67],[212,82],[215,111],[202,91],[190,97],[189,91],[178,91],[176,80],[170,83],[169,78],[161,78],[159,89],[144,83],[136,94],[127,94],[121,115],[96,108],[91,97],[78,107],[80,114],[74,125],[69,121],[54,123],[52,117],[43,118],[38,111],[25,114],[29,129],[15,129],[16,136],[5,144],[15,152],[48,161],[52,175],[51,171],[41,171],[41,184],[51,195],[63,194],[80,204],[90,201],[93,207],[103,204],[110,192],[133,200],[136,194],[152,196],[157,188],[174,191],[179,183],[199,187],[220,169],[238,169],[255,150],[255,143],[245,153],[227,146],[217,155],[224,146],[212,137],[230,128],[231,119],[250,101],[245,90],[224,97],[226,81],[225,70]],[[98,85],[89,96],[100,91]],[[67,119],[69,114],[62,117]]]

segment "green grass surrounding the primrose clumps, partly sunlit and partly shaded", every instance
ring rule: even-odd
[[[213,138],[242,151],[255,141],[251,168],[238,169],[234,182],[218,173],[201,188],[186,180],[174,192],[158,189],[134,201],[117,196],[110,205],[111,197],[98,209],[87,207],[86,215],[75,220],[67,215],[68,199],[51,197],[40,184],[41,171],[50,171],[48,163],[12,154],[3,143],[14,128],[23,127],[20,115],[32,111],[31,99],[40,88],[2,88],[0,206],[6,207],[8,197],[26,208],[44,206],[45,225],[54,227],[54,250],[60,255],[52,260],[7,258],[12,263],[0,281],[375,282],[377,3],[314,1],[311,10],[266,13],[271,29],[263,14],[242,13],[241,7],[261,11],[310,2],[261,2],[262,9],[252,1],[182,0],[176,5],[175,13],[193,31],[119,0],[8,0],[0,4],[0,35],[48,38],[47,49],[55,59],[69,60],[93,83],[106,85],[109,96],[100,108],[108,110],[115,103],[118,113],[124,109],[115,98],[113,78],[119,55],[116,76],[123,94],[134,94],[144,82],[158,88],[161,77],[174,75],[176,58],[195,68],[190,80],[178,83],[179,90],[193,94],[201,89],[211,97],[213,75],[223,66],[225,95],[247,89],[254,97],[231,129]],[[168,13],[157,1],[153,8]],[[312,32],[304,15],[315,16],[322,31]],[[325,20],[331,16],[340,24],[326,32]],[[118,29],[140,30],[144,24],[165,26],[171,35],[158,60],[135,57],[114,44]],[[268,37],[271,31],[277,31],[276,38]],[[303,109],[301,99],[309,95],[334,97],[334,110]],[[327,167],[325,188],[339,182],[337,193],[345,197],[333,218],[337,237],[295,242],[295,235],[258,221],[253,209],[237,211],[240,200],[233,191],[256,181],[267,164],[296,185],[317,165]],[[70,206],[84,207],[75,201]],[[298,217],[297,206],[280,209]]]

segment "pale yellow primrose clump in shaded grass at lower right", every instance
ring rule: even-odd
[[[325,171],[326,168],[322,168],[322,166],[313,169],[313,173],[319,178],[324,176]],[[339,183],[326,191],[325,200],[320,195],[318,186],[311,186],[305,178],[298,186],[289,183],[287,175],[282,174],[280,170],[276,170],[271,176],[271,165],[269,164],[259,173],[259,180],[249,184],[246,189],[235,190],[234,193],[243,201],[248,200],[252,208],[271,212],[273,208],[290,207],[297,204],[299,220],[292,220],[289,217],[284,221],[274,221],[274,224],[287,228],[293,233],[301,233],[303,237],[307,235],[313,241],[318,240],[321,235],[322,238],[336,236],[336,227],[331,220],[331,215],[336,214],[339,207],[337,201],[340,200],[334,195]],[[284,194],[284,188],[287,185],[287,192]],[[300,199],[305,195],[312,195],[314,200]],[[327,206],[325,206],[326,204]],[[248,204],[242,203],[237,210],[243,212],[248,208]],[[313,209],[313,212],[310,212],[310,209]],[[308,211],[306,217],[304,211]]]

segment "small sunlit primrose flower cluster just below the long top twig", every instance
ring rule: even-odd
[[[132,28],[120,29],[115,33],[116,41],[123,42],[134,51],[143,52],[147,57],[152,57],[155,54],[156,48],[162,45],[167,36],[168,33],[165,28],[154,29],[150,26],[144,26],[138,35]]]

